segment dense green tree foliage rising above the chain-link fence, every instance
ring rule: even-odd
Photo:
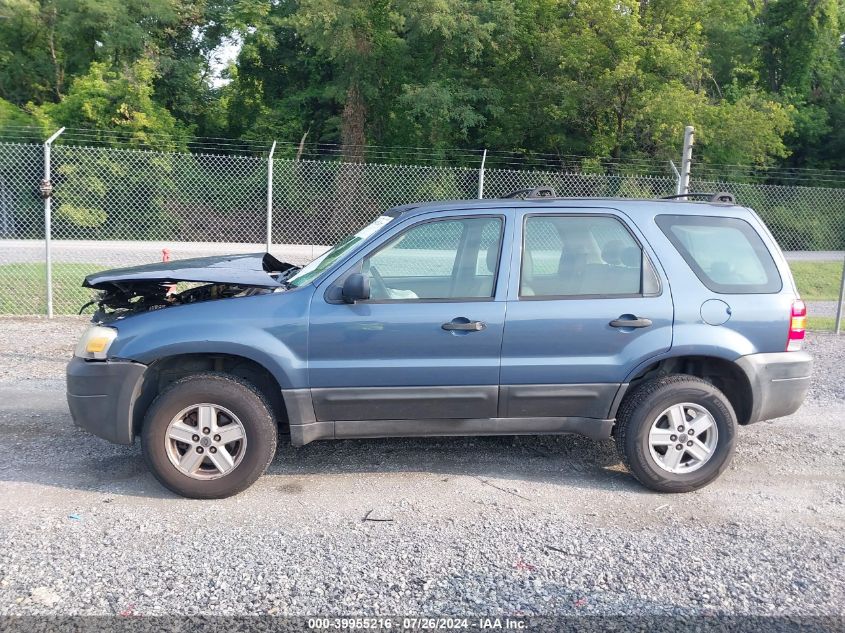
[[[161,149],[212,134],[341,143],[353,162],[367,144],[664,160],[693,124],[698,160],[841,169],[843,13],[841,0],[0,0],[0,130],[32,112]]]

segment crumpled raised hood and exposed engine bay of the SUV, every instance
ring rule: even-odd
[[[108,322],[130,314],[177,305],[280,292],[298,267],[269,253],[197,257],[107,270],[88,275],[86,288],[99,296],[93,320]]]

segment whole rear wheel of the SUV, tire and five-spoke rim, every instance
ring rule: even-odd
[[[625,397],[617,415],[616,447],[647,488],[691,492],[728,467],[736,429],[733,407],[712,384],[695,376],[664,376]]]

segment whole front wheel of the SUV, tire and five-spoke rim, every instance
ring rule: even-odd
[[[271,410],[261,392],[241,378],[210,372],[182,378],[147,411],[144,458],[156,479],[176,494],[235,495],[251,486],[276,454]]]

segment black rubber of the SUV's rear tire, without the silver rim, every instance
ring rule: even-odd
[[[698,470],[673,473],[652,457],[649,431],[663,411],[687,402],[710,413],[718,436],[711,457]],[[638,385],[625,397],[617,415],[616,447],[631,474],[647,488],[658,492],[690,492],[712,482],[730,465],[736,429],[733,407],[712,384],[684,374],[664,376]]]

